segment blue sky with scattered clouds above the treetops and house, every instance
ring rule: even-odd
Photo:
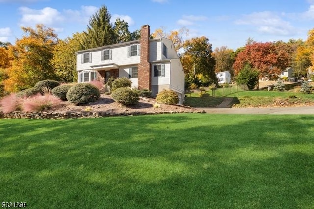
[[[58,37],[86,30],[88,20],[105,5],[132,32],[150,25],[151,32],[186,27],[188,37],[206,36],[213,49],[237,49],[255,41],[307,38],[314,28],[314,0],[0,0],[0,41],[15,43],[21,26],[43,23]]]

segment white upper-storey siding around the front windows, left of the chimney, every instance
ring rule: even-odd
[[[131,45],[129,45],[131,46]],[[104,48],[106,49],[106,48]],[[121,65],[130,65],[138,64],[140,62],[140,56],[131,56],[128,57],[128,46],[115,47],[112,49],[112,59],[101,61],[101,52],[104,50],[92,51],[92,62],[91,63],[81,63],[81,56],[83,53],[78,53],[77,55],[77,71],[91,69],[92,65],[101,65],[101,64],[111,64],[115,63],[119,66]]]

